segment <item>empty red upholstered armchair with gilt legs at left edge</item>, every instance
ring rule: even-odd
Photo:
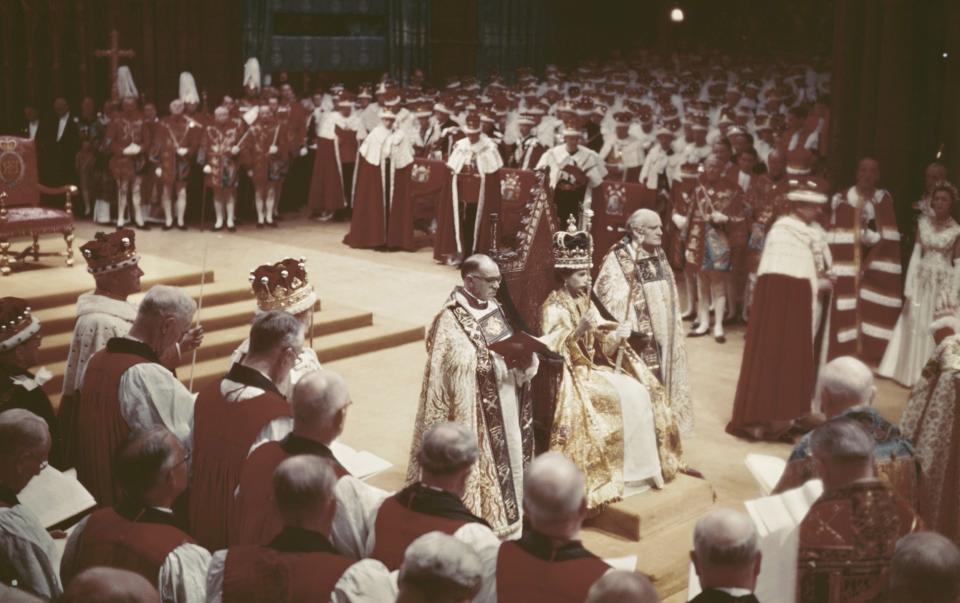
[[[65,195],[63,209],[40,207],[40,193]],[[34,142],[27,138],[0,136],[0,275],[11,272],[11,262],[41,255],[40,235],[58,233],[67,244],[66,264],[73,266],[73,185],[50,188],[40,184],[37,176],[37,155]],[[32,244],[20,253],[10,253],[10,241],[31,238]]]

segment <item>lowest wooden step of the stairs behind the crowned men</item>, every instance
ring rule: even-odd
[[[423,339],[423,335],[422,326],[411,327],[378,317],[375,324],[366,327],[315,337],[313,349],[316,350],[321,362],[330,362],[417,341]],[[193,390],[198,391],[205,385],[221,379],[229,368],[229,355],[197,362],[194,368]],[[178,374],[181,381],[189,383],[189,366],[180,370]]]

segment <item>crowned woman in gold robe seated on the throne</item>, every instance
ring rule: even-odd
[[[590,235],[571,219],[554,236],[553,254],[563,284],[540,311],[540,340],[563,357],[550,449],[583,470],[587,506],[596,509],[673,479],[680,442],[658,438],[660,432],[676,434],[677,427],[656,377],[635,374],[643,363],[624,357],[635,354],[626,343],[629,325],[604,320],[590,299]]]

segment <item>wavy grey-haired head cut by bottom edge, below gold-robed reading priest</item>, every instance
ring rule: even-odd
[[[417,603],[470,601],[483,570],[472,547],[442,532],[429,532],[407,547],[400,566],[400,598]]]

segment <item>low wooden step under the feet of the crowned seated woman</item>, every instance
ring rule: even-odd
[[[638,541],[700,517],[716,494],[706,480],[680,474],[662,490],[648,490],[608,506],[586,525]]]

